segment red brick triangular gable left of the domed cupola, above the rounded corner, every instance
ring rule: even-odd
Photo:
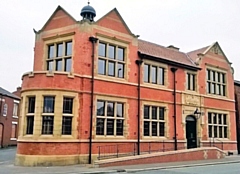
[[[61,6],[58,6],[40,31],[47,31],[76,24],[76,20]]]

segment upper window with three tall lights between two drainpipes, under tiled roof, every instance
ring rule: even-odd
[[[144,64],[144,82],[164,85],[164,68]]]

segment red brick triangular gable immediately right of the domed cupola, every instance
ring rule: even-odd
[[[130,31],[116,8],[107,13],[101,19],[99,19],[96,24],[101,27],[132,35],[132,32]]]

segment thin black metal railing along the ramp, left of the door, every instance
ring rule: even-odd
[[[97,146],[98,160],[137,155],[137,143],[125,143]],[[174,142],[152,141],[140,145],[140,154],[174,151]],[[184,143],[178,144],[178,150],[185,149]]]

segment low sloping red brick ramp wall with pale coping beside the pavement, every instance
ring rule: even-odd
[[[94,161],[95,167],[110,167],[121,165],[137,165],[151,163],[166,163],[177,161],[192,161],[205,159],[224,158],[225,153],[216,147],[203,147],[195,149],[185,149],[170,152],[158,152],[153,154],[145,154],[138,156],[114,158],[107,160]]]

